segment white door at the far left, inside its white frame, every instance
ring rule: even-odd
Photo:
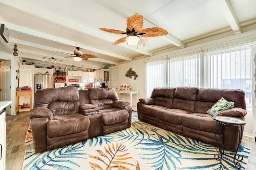
[[[11,101],[11,61],[2,61],[1,62],[1,78],[0,78],[0,84],[1,84],[1,95],[0,95],[0,101]],[[10,115],[11,110],[10,106],[6,107],[6,114]]]

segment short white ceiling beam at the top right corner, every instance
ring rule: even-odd
[[[236,13],[234,12],[230,0],[216,0],[216,2],[234,33],[241,33],[241,25],[239,24],[238,18],[236,17]]]

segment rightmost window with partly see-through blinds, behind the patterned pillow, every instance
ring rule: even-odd
[[[251,44],[227,45],[204,51],[205,68],[208,68],[204,86],[242,89],[246,93],[247,107],[252,107]]]

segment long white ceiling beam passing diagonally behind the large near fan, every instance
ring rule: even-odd
[[[133,15],[136,14],[136,12],[126,8],[125,6],[122,6],[119,3],[117,3],[118,1],[116,1],[114,3],[111,0],[104,0],[104,1],[102,1],[102,0],[93,0],[93,1],[96,2],[97,4],[103,6],[103,7],[111,10],[112,12],[118,14],[119,16],[124,17],[124,18],[129,18],[130,16],[133,16]],[[120,11],[119,9],[122,9],[122,11]],[[154,23],[148,21],[146,18],[144,18],[143,22],[146,25],[149,25],[150,27],[158,27],[158,25],[155,25]],[[168,33],[167,35],[164,35],[164,36],[160,36],[160,38],[168,41],[169,43],[171,43],[173,45],[176,45],[177,47],[180,47],[180,48],[185,48],[186,47],[186,44],[183,41],[180,41],[178,38],[174,37],[170,33]]]

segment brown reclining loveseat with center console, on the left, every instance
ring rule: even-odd
[[[132,107],[113,88],[48,88],[30,111],[35,152],[50,150],[131,126]]]

